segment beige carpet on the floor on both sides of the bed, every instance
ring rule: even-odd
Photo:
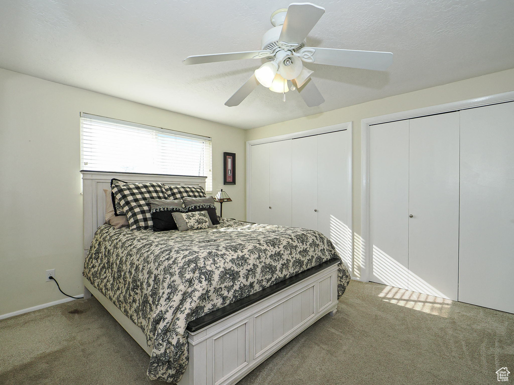
[[[148,360],[94,298],[0,321],[0,384],[160,383]],[[494,384],[502,367],[514,382],[514,315],[352,281],[239,384]]]

